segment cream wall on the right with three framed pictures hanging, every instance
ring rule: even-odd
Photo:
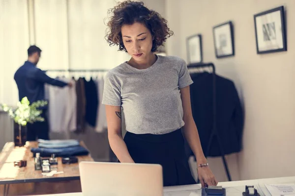
[[[253,15],[281,5],[286,9],[288,51],[258,55]],[[185,38],[201,33],[204,61],[234,80],[243,101],[244,149],[227,157],[233,179],[295,175],[295,1],[166,0],[165,6],[177,32],[168,40],[168,54],[186,59]],[[212,27],[229,20],[234,23],[236,55],[217,60]],[[209,162],[218,180],[226,180],[221,159]]]

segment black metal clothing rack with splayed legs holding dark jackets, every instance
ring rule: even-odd
[[[188,69],[191,69],[191,68],[206,68],[206,67],[211,67],[212,68],[212,80],[213,80],[213,88],[212,88],[212,91],[213,91],[213,102],[212,102],[212,107],[213,107],[213,128],[212,128],[212,132],[211,132],[211,135],[210,135],[210,138],[209,138],[209,143],[208,143],[208,148],[207,148],[207,152],[205,154],[205,157],[207,157],[207,155],[209,154],[210,152],[210,147],[212,145],[212,140],[213,140],[213,137],[216,137],[217,138],[217,142],[219,144],[219,149],[220,149],[220,153],[222,155],[222,160],[223,160],[223,165],[224,165],[224,168],[226,170],[226,174],[227,174],[227,177],[228,177],[228,180],[229,181],[232,181],[232,177],[231,177],[231,174],[229,172],[229,169],[228,169],[228,164],[227,164],[227,161],[225,160],[225,154],[224,154],[224,149],[222,147],[222,143],[221,143],[221,140],[220,140],[220,137],[219,137],[219,133],[218,133],[218,130],[217,130],[217,122],[216,122],[216,116],[217,116],[217,111],[216,111],[216,74],[215,74],[215,66],[213,63],[194,63],[194,64],[189,64],[187,65],[187,68]],[[198,179],[198,183],[199,183],[200,179]]]

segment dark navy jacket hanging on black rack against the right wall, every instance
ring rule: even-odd
[[[212,73],[191,74],[194,83],[190,86],[191,105],[194,121],[197,125],[201,145],[207,152],[212,132],[213,113]],[[225,154],[239,152],[242,143],[243,111],[233,81],[216,75],[216,125]],[[220,156],[216,137],[206,156]]]

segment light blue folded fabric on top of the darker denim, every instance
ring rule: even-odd
[[[76,147],[80,146],[78,140],[37,140],[38,147],[45,148],[62,148],[62,147]]]

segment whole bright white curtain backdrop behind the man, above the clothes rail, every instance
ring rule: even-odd
[[[27,60],[29,45],[42,49],[38,67],[43,70],[111,69],[126,61],[128,55],[104,39],[104,19],[115,4],[115,0],[0,0],[0,103],[18,101],[13,75]]]

